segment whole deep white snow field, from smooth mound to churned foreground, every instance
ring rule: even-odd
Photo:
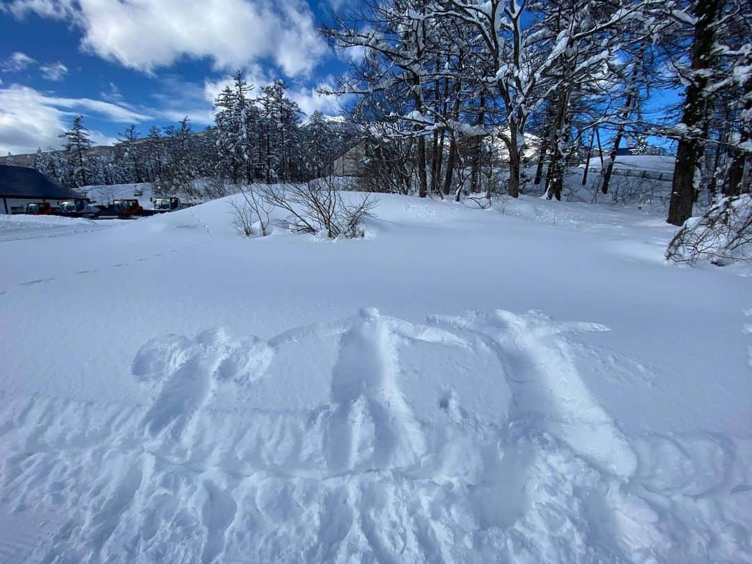
[[[376,213],[0,217],[0,562],[752,562],[750,277],[636,211]]]

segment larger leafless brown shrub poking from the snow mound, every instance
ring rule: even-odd
[[[268,185],[262,199],[290,214],[290,229],[299,233],[326,233],[329,238],[343,235],[362,237],[362,220],[371,215],[376,204],[370,195],[355,205],[345,204],[332,177],[305,184]]]

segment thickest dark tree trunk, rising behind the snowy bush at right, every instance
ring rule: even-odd
[[[708,77],[702,71],[711,65],[710,53],[715,41],[714,23],[720,15],[722,5],[722,0],[699,0],[695,8],[697,22],[692,46],[693,73],[687,86],[681,120],[685,133],[676,150],[669,217],[666,219],[675,226],[684,225],[692,217],[695,175],[705,150],[704,142],[699,139],[699,132],[706,129],[708,123],[708,99],[705,92]]]

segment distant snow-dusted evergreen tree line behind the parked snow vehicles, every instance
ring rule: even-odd
[[[277,80],[253,96],[243,71],[215,100],[215,123],[195,131],[188,117],[152,126],[146,136],[127,127],[112,150],[92,147],[83,117],[62,133],[60,150],[39,149],[32,167],[65,186],[151,182],[160,193],[189,190],[192,180],[299,182],[329,174],[357,130],[314,111],[304,115]]]

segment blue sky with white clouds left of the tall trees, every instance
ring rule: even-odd
[[[130,123],[148,132],[211,100],[235,68],[283,78],[302,110],[337,114],[318,96],[347,67],[317,27],[341,0],[0,0],[0,154],[59,144],[83,114],[97,144]]]

